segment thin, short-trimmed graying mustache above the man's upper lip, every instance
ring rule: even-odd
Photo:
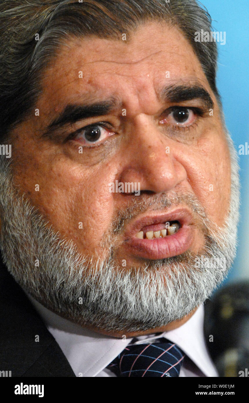
[[[157,195],[141,195],[139,200],[138,197],[133,197],[126,208],[120,208],[115,214],[111,224],[111,233],[113,235],[121,234],[123,227],[133,218],[136,218],[138,214],[145,213],[148,210],[158,211],[165,209],[165,207],[181,205],[190,209],[196,226],[209,233],[207,228],[210,228],[211,222],[197,197],[190,192],[178,193],[176,191]]]

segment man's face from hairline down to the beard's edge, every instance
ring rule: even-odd
[[[203,250],[203,216],[188,200],[213,231],[222,227],[230,158],[216,98],[182,33],[154,22],[126,41],[70,40],[42,86],[39,116],[13,131],[13,175],[54,230],[92,262],[112,242],[125,270]],[[73,105],[84,110],[67,121]],[[140,195],[111,192],[115,181],[138,183]],[[172,221],[179,231],[154,239]]]

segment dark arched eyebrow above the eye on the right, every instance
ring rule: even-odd
[[[213,109],[213,100],[211,96],[205,90],[205,88],[200,87],[199,85],[172,85],[170,87],[164,87],[160,91],[160,98],[166,102],[171,103],[179,103],[200,98],[201,100],[203,100],[207,108]]]

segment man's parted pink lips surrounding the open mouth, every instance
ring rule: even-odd
[[[179,221],[180,229],[173,235],[157,239],[138,239],[136,234],[147,225],[160,224],[167,221]],[[193,241],[193,215],[187,208],[176,208],[172,211],[151,212],[130,224],[125,231],[126,247],[130,253],[144,259],[165,259],[186,252]]]

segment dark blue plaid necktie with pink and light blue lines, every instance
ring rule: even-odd
[[[184,353],[178,346],[160,338],[151,344],[127,346],[107,368],[120,377],[177,377],[183,359]]]

